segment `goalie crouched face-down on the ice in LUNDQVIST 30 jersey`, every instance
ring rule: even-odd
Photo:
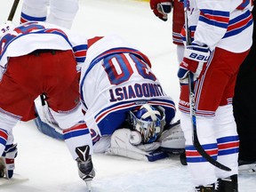
[[[93,38],[89,45],[80,92],[94,153],[150,162],[183,153],[180,122],[173,124],[175,104],[153,74],[148,57],[119,36]],[[44,96],[36,100],[36,110],[38,130],[63,140]]]

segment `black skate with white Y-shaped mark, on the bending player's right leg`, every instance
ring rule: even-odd
[[[92,164],[92,156],[89,155],[89,146],[82,146],[76,148],[78,155],[76,162],[78,166],[79,177],[85,181],[89,192],[92,191],[92,179],[95,177],[95,171]]]

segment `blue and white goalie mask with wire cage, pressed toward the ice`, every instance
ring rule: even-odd
[[[164,108],[144,104],[139,110],[130,111],[132,129],[140,132],[143,143],[151,143],[158,139],[164,130]]]

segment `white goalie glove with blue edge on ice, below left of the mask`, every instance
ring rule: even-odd
[[[164,152],[157,150],[160,147],[159,142],[140,143],[140,132],[131,131],[127,128],[118,129],[111,136],[111,145],[106,154],[150,162],[167,156]]]

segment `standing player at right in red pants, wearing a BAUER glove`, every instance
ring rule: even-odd
[[[189,0],[187,6],[191,44],[185,49],[178,76],[188,169],[195,191],[235,192],[239,139],[232,98],[238,69],[252,45],[252,4],[249,0]],[[207,162],[193,145],[188,73],[194,75],[198,140],[206,153],[230,172]]]

